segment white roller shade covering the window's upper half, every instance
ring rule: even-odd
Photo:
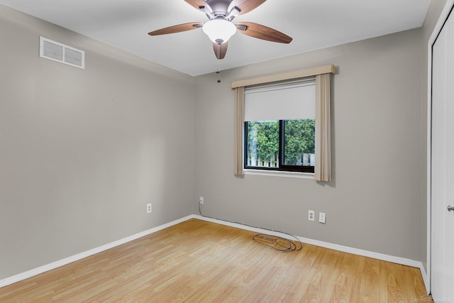
[[[245,88],[244,121],[315,119],[315,79]]]

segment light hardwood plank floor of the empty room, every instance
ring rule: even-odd
[[[428,302],[421,273],[190,219],[0,288],[0,302]]]

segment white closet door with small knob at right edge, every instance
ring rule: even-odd
[[[432,48],[431,294],[454,302],[454,16]]]

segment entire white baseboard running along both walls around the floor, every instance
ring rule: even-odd
[[[72,262],[77,261],[77,260],[81,260],[83,258],[87,258],[90,255],[94,255],[96,253],[101,253],[101,251],[108,250],[108,249],[114,248],[116,246],[120,246],[120,245],[122,245],[124,243],[127,243],[129,241],[133,241],[133,240],[141,238],[143,236],[148,236],[151,233],[155,233],[155,232],[160,231],[160,230],[162,230],[164,228],[173,226],[175,224],[179,224],[179,223],[181,223],[183,221],[187,221],[189,219],[199,219],[199,220],[209,221],[209,222],[213,222],[213,223],[217,223],[217,224],[223,224],[223,225],[226,225],[226,226],[231,226],[231,227],[245,229],[245,230],[248,230],[248,231],[256,231],[258,233],[267,233],[267,234],[272,234],[272,235],[275,235],[275,236],[285,236],[285,235],[282,235],[282,233],[269,231],[267,229],[254,228],[254,227],[246,226],[246,225],[243,225],[243,224],[238,224],[238,223],[233,223],[233,222],[228,222],[228,221],[223,221],[223,220],[218,220],[218,219],[213,219],[213,218],[208,218],[208,217],[205,217],[205,216],[199,216],[199,215],[194,215],[193,214],[193,215],[185,216],[185,217],[183,217],[181,219],[177,219],[177,220],[172,221],[170,223],[162,224],[162,225],[157,226],[155,228],[148,229],[147,231],[143,231],[141,233],[136,233],[133,236],[128,236],[126,238],[122,238],[121,240],[108,243],[108,244],[106,244],[104,246],[99,246],[97,248],[93,248],[91,250],[87,250],[87,251],[85,251],[83,253],[78,253],[77,255],[73,255],[73,256],[71,256],[69,258],[58,260],[58,261],[50,263],[48,265],[43,265],[43,266],[40,266],[39,268],[35,268],[33,270],[28,270],[28,271],[22,272],[22,273],[20,273],[18,275],[13,275],[12,277],[7,277],[7,278],[5,278],[3,280],[0,280],[0,287],[4,287],[6,285],[11,285],[11,284],[19,282],[21,280],[25,280],[28,277],[33,277],[35,275],[39,275],[40,273],[47,272],[48,270],[53,270],[55,268],[59,268],[60,266],[67,265],[69,263],[72,263]],[[406,266],[411,266],[413,268],[419,268],[421,270],[421,275],[423,276],[424,283],[426,284],[426,290],[429,289],[428,288],[428,277],[426,275],[426,270],[424,270],[423,263],[421,263],[420,261],[410,260],[410,259],[406,259],[406,258],[394,257],[392,255],[384,255],[382,253],[374,253],[374,252],[368,251],[368,250],[362,250],[362,249],[358,249],[358,248],[351,248],[351,247],[348,247],[348,246],[341,246],[341,245],[337,245],[337,244],[333,244],[333,243],[328,243],[328,242],[323,242],[323,241],[318,241],[318,240],[312,240],[312,239],[309,239],[309,238],[302,238],[302,237],[298,237],[298,236],[297,236],[297,238],[302,243],[307,243],[307,244],[311,244],[311,245],[315,245],[315,246],[321,246],[321,247],[324,247],[324,248],[330,248],[330,249],[333,249],[333,250],[339,250],[339,251],[343,251],[344,253],[353,253],[355,255],[362,255],[364,257],[375,258],[375,259],[378,259],[378,260],[384,260],[384,261],[388,261],[388,262],[392,262],[392,263],[397,263],[397,264],[402,264],[402,265],[406,265]]]

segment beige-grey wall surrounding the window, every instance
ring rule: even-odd
[[[421,28],[196,78],[194,207],[219,219],[422,260]],[[233,175],[230,82],[333,63],[333,182]],[[326,212],[326,225],[307,220]],[[195,211],[196,209],[194,209]]]

